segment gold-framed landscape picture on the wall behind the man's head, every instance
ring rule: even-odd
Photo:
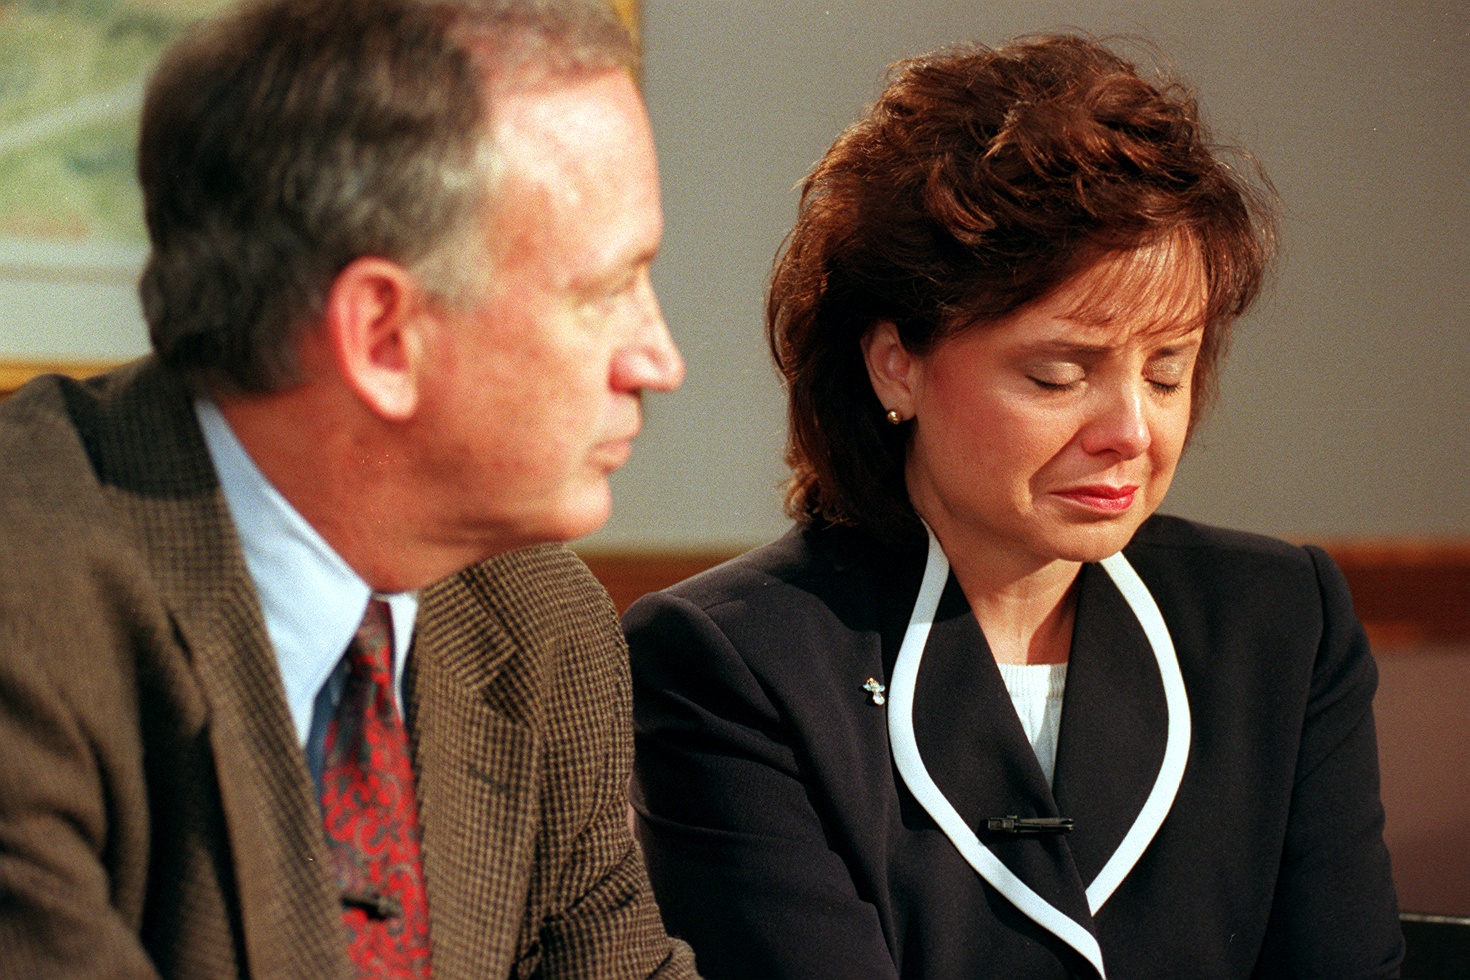
[[[228,0],[0,0],[0,394],[146,348],[138,109],[159,54]]]

